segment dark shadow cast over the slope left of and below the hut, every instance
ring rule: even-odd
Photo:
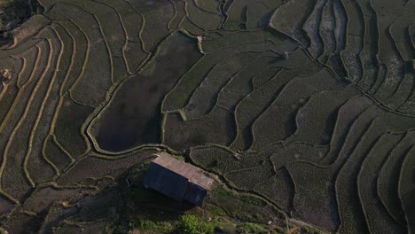
[[[130,168],[117,181],[109,184],[98,182],[94,185],[105,186],[102,191],[79,196],[67,207],[62,204],[52,206],[45,214],[43,226],[38,227],[38,233],[106,233],[108,230],[111,233],[128,233],[141,221],[176,221],[194,207],[145,189],[142,183],[146,168],[147,164],[140,164]],[[35,223],[35,220],[32,222]]]

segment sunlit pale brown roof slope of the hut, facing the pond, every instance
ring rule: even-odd
[[[189,182],[199,185],[200,187],[210,190],[210,186],[214,182],[213,179],[206,175],[200,174],[200,169],[193,167],[192,165],[185,163],[181,160],[176,160],[168,155],[167,152],[161,152],[157,154],[157,158],[153,160],[153,163],[160,165],[163,168],[182,175],[189,179]]]

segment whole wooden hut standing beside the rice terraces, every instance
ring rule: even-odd
[[[150,163],[144,185],[172,199],[187,200],[201,206],[213,182],[213,179],[201,174],[199,168],[161,152]]]

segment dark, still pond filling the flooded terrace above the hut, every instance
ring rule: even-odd
[[[199,58],[197,41],[176,33],[163,44],[145,69],[125,82],[111,106],[94,126],[101,149],[127,150],[161,142],[161,101]]]

